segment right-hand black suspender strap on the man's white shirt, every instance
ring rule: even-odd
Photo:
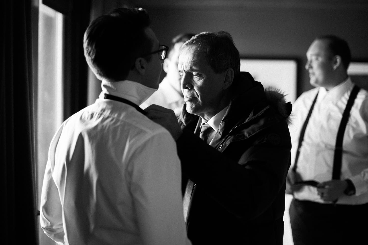
[[[349,100],[347,101],[346,108],[343,112],[343,117],[340,122],[339,130],[337,131],[335,154],[333,155],[333,169],[332,169],[332,179],[339,180],[341,175],[341,163],[343,155],[343,138],[347,125],[347,121],[350,116],[351,107],[353,107],[354,100],[358,95],[360,87],[354,85],[351,90]]]

